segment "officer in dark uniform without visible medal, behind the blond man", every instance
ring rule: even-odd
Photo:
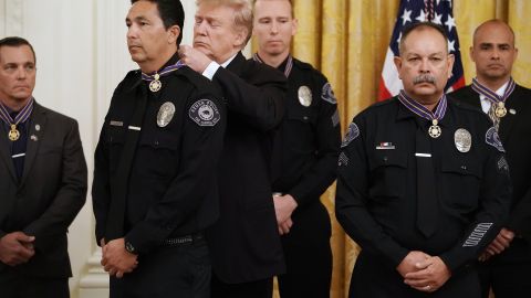
[[[280,166],[273,171],[273,201],[288,269],[278,276],[279,291],[283,298],[330,297],[331,224],[320,195],[335,179],[340,117],[326,77],[290,54],[296,22],[289,0],[254,2],[259,49],[253,57],[288,77],[287,114],[273,162]]]

